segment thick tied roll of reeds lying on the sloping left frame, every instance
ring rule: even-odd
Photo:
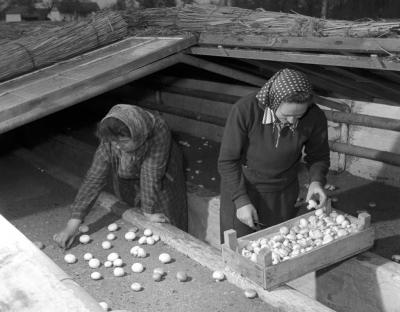
[[[0,81],[51,65],[122,39],[127,23],[116,12],[101,12],[67,25],[35,32],[0,46]]]

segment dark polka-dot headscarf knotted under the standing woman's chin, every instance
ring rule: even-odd
[[[282,69],[275,73],[257,93],[258,105],[264,110],[263,124],[273,123],[273,131],[277,130],[275,147],[279,145],[279,138],[284,127],[277,118],[276,111],[282,100],[287,96],[298,92],[312,94],[312,85],[307,76],[302,72],[293,69]],[[292,133],[296,130],[297,124],[290,126]]]

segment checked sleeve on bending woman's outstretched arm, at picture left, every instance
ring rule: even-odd
[[[106,185],[106,177],[110,169],[110,155],[104,143],[97,148],[92,165],[79,188],[71,205],[71,218],[82,220],[89,212],[92,202]]]

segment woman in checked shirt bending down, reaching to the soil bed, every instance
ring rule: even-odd
[[[100,145],[72,204],[66,227],[54,235],[69,247],[83,218],[111,173],[115,194],[140,207],[153,222],[171,222],[186,230],[187,209],[182,155],[166,122],[134,105],[114,106],[101,120]]]

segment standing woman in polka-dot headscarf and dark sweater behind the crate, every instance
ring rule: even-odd
[[[225,125],[218,159],[221,175],[220,228],[249,234],[257,224],[271,226],[297,214],[298,168],[304,148],[310,186],[319,197],[329,169],[327,121],[313,104],[307,77],[283,69],[257,94],[240,99]]]

